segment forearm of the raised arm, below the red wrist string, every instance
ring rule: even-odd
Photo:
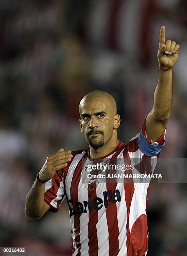
[[[172,69],[164,71],[159,68],[159,78],[154,91],[152,114],[155,120],[168,120],[172,107]]]

